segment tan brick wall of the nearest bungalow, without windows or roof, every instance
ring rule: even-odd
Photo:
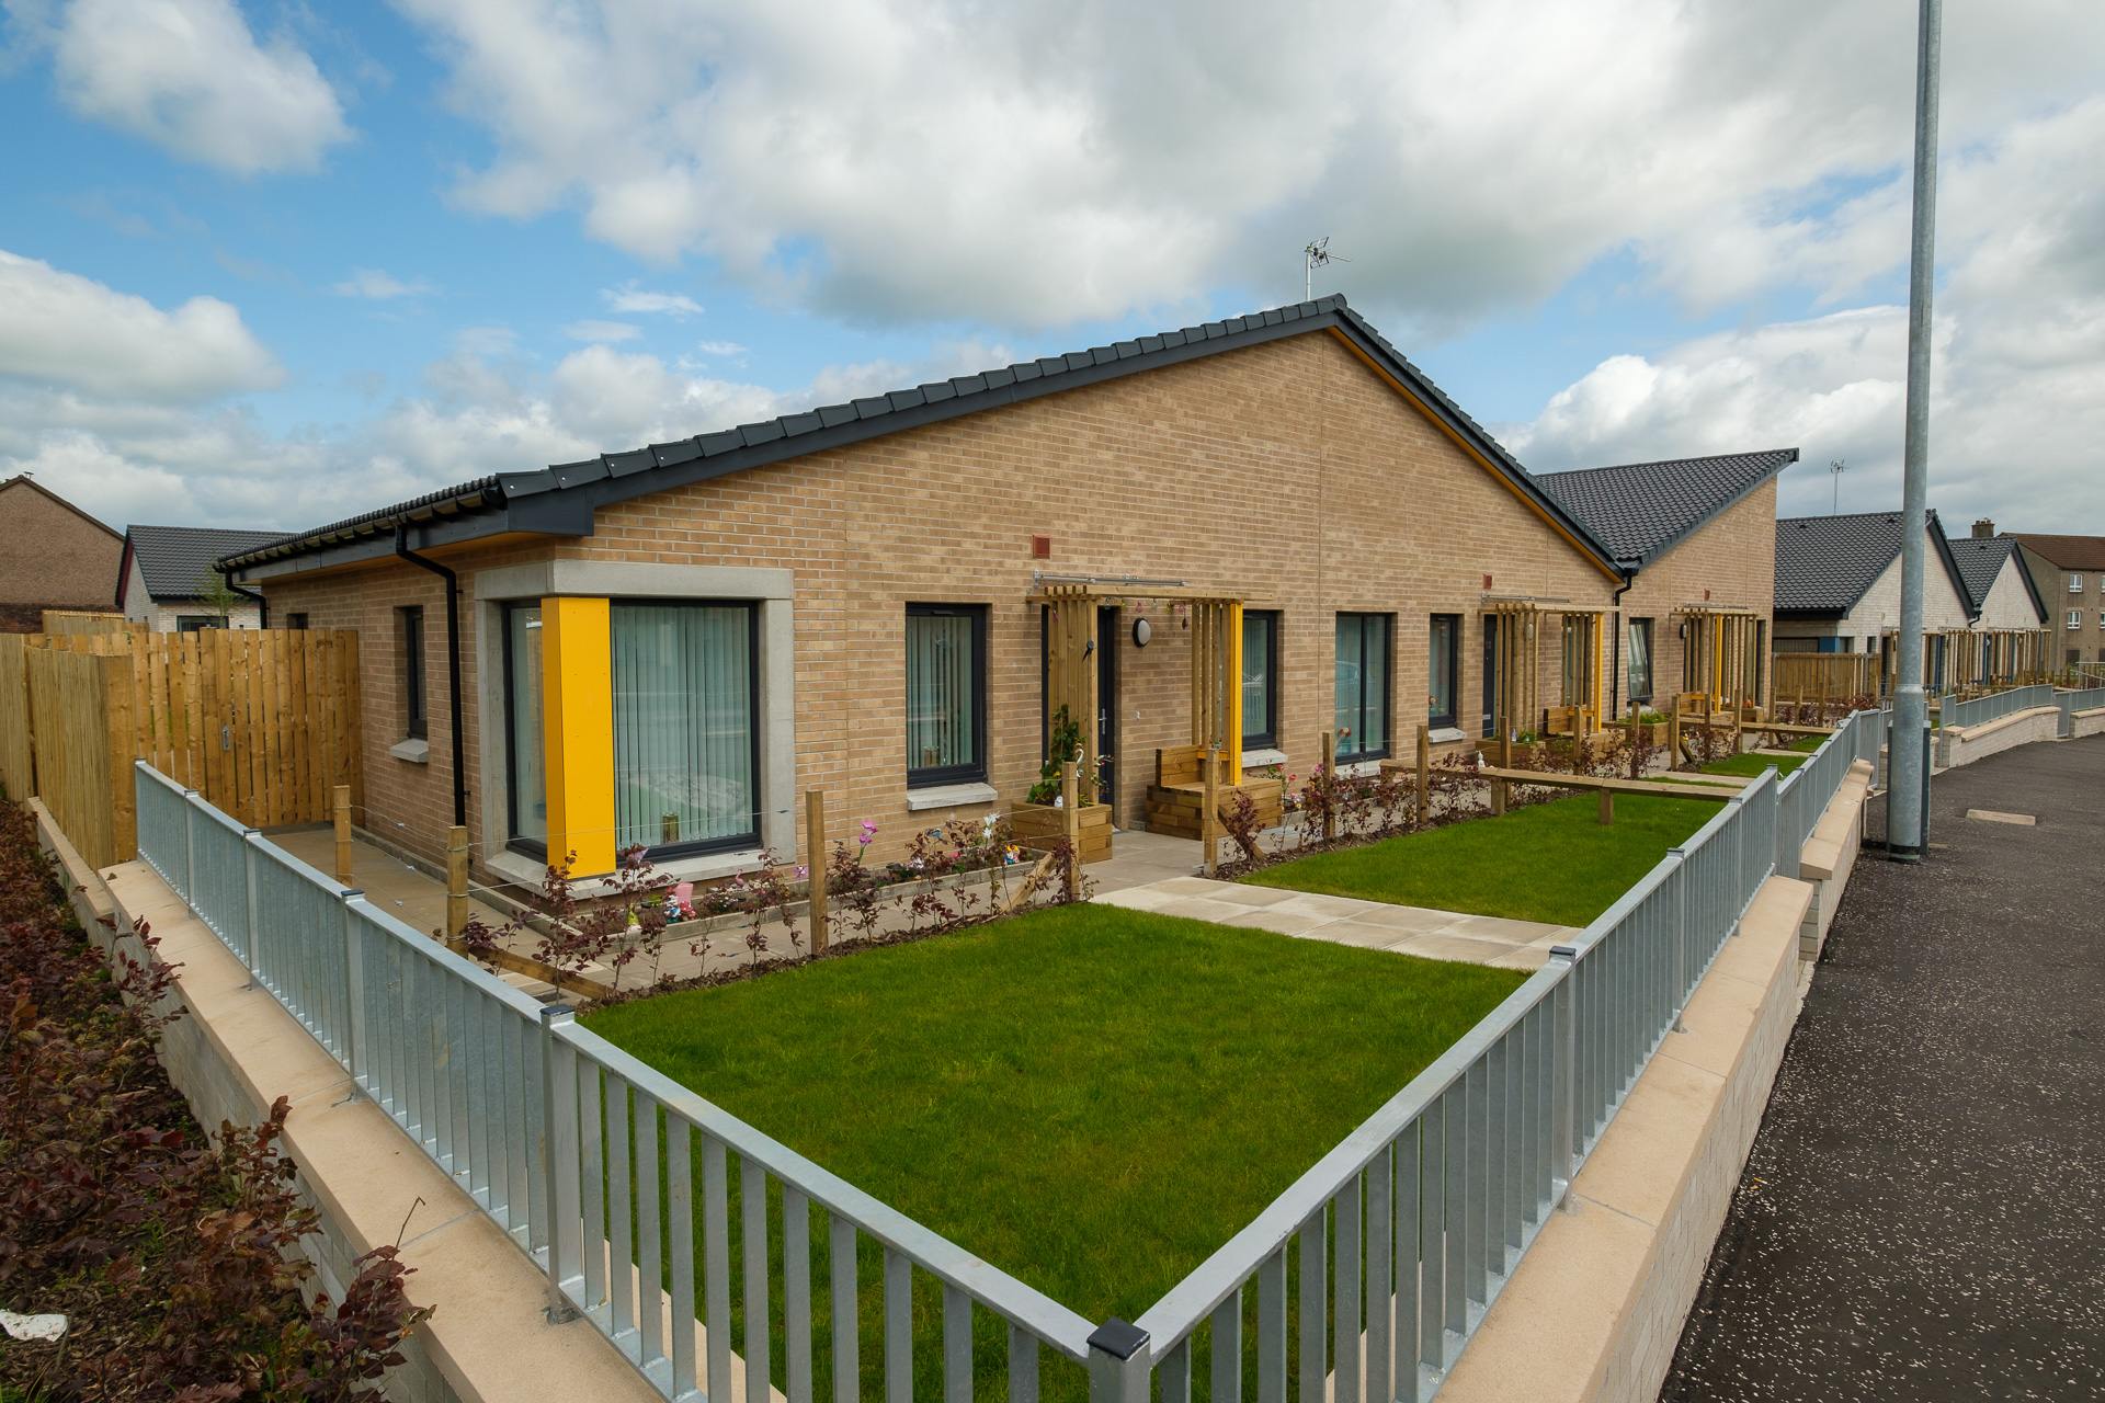
[[[1764,499],[1772,511],[1772,492]],[[1052,536],[1034,562],[1029,538]],[[1772,526],[1762,522],[1762,549]],[[1330,334],[1208,355],[617,503],[598,534],[434,551],[461,572],[547,557],[777,566],[796,572],[798,789],[834,825],[876,818],[874,856],[943,818],[905,808],[905,604],[987,604],[989,780],[1004,804],[1040,764],[1040,623],[1031,568],[1187,578],[1282,610],[1280,743],[1307,774],[1330,719],[1332,616],[1396,614],[1396,747],[1427,686],[1427,618],[1465,616],[1463,726],[1474,730],[1484,576],[1497,591],[1608,608],[1612,581]],[[436,576],[385,562],[267,585],[272,610],[364,633],[373,827],[436,852],[450,814],[444,627]],[[1766,599],[1766,593],[1764,593]],[[427,608],[432,761],[400,738],[394,618]],[[1132,608],[1156,625],[1130,644]],[[469,787],[474,608],[463,597]],[[1189,633],[1158,602],[1120,623],[1120,816],[1141,812],[1154,747],[1189,740]],[[968,810],[985,812],[985,810]],[[469,804],[472,827],[480,822]],[[499,835],[501,837],[501,835]],[[802,841],[802,839],[800,839]],[[476,833],[478,852],[484,839]]]

